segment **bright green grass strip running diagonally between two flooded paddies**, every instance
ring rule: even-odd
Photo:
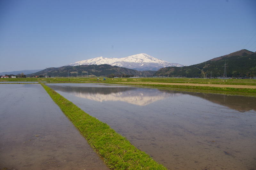
[[[50,87],[41,83],[52,100],[80,130],[94,151],[100,154],[111,169],[166,169],[148,154],[133,146],[127,139],[65,99]]]

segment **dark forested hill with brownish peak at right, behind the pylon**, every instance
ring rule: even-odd
[[[159,69],[155,76],[169,77],[222,77],[224,64],[227,64],[227,77],[255,77],[256,52],[242,49],[209,61],[184,67],[165,67]]]

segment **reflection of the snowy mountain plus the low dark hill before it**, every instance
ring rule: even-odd
[[[55,86],[56,87],[56,86]],[[146,106],[167,97],[180,96],[181,93],[159,92],[158,90],[134,87],[65,87],[58,90],[72,93],[76,97],[94,101],[124,101],[130,104]]]

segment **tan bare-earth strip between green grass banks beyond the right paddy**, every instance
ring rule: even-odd
[[[125,83],[125,82],[122,82]],[[158,82],[129,82],[132,84],[151,84],[151,85],[192,85],[208,87],[232,87],[232,88],[249,88],[256,89],[256,85],[215,85],[215,84],[194,84],[194,83],[158,83]]]

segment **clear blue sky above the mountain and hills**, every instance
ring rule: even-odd
[[[0,72],[139,53],[191,65],[256,51],[255,7],[255,0],[0,0]]]

